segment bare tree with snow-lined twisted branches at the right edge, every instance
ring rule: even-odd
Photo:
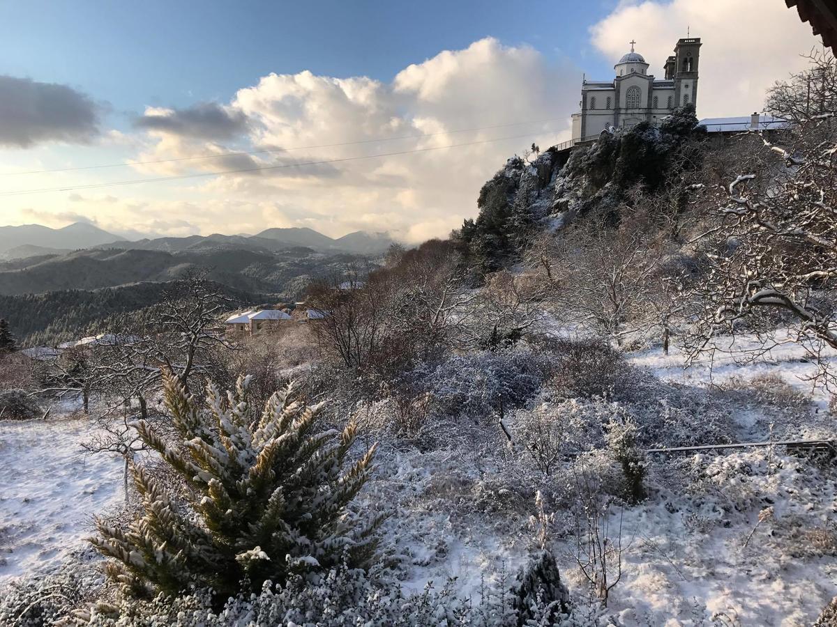
[[[756,139],[737,176],[706,191],[714,222],[696,238],[703,272],[687,294],[687,348],[695,359],[725,349],[719,335],[745,330],[760,339],[748,359],[792,342],[828,375],[823,350],[837,349],[837,136],[820,119],[788,137],[793,145]]]

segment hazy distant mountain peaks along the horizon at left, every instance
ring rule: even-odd
[[[63,228],[24,224],[0,227],[0,258],[12,260],[46,255],[65,255],[80,249],[152,250],[162,252],[239,249],[253,252],[286,251],[306,247],[316,252],[374,255],[385,251],[393,240],[387,233],[357,231],[343,237],[328,237],[311,228],[268,228],[255,235],[191,235],[155,237],[129,241],[89,222],[74,222]]]

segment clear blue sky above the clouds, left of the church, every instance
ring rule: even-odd
[[[118,116],[146,104],[227,100],[270,72],[389,80],[485,36],[591,69],[611,64],[588,28],[616,2],[0,3],[0,74],[77,86]]]

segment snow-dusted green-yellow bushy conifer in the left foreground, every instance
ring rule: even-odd
[[[364,567],[375,553],[382,516],[347,505],[372,471],[372,446],[343,471],[357,427],[314,431],[320,405],[291,400],[293,385],[259,415],[248,403],[248,378],[226,398],[208,385],[200,410],[177,376],[164,375],[167,409],[182,446],[168,446],[146,421],[134,427],[187,486],[173,502],[142,466],[132,474],[144,512],[127,528],[97,520],[90,542],[110,558],[106,573],[127,594],[212,589],[223,601],[241,582],[258,591],[291,573]],[[185,505],[185,507],[182,507]]]

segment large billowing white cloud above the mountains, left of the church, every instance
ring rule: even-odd
[[[202,139],[198,133],[174,128],[168,120],[172,112],[149,110],[146,118],[154,124],[148,129],[146,150],[135,161],[223,155],[243,142],[257,150],[305,150],[136,168],[169,175],[289,166],[199,181],[188,193],[177,191],[198,207],[184,217],[200,232],[309,226],[336,236],[363,229],[387,230],[410,242],[444,237],[475,214],[480,186],[506,158],[532,142],[545,148],[568,136],[568,116],[578,100],[580,79],[580,70],[569,64],[549,64],[533,48],[507,47],[493,38],[410,65],[391,83],[307,71],[270,74],[239,89],[223,105],[225,115],[237,120],[247,135],[230,137],[229,143],[217,136]],[[204,108],[196,105],[193,110]],[[450,132],[530,121],[539,123]],[[382,140],[424,134],[434,135]],[[294,166],[512,135],[521,136],[449,150]]]

